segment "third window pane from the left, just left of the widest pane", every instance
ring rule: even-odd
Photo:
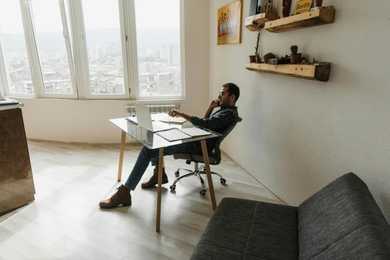
[[[83,0],[91,94],[125,94],[117,0]]]

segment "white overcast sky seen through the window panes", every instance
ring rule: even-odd
[[[32,0],[37,32],[62,31],[57,0]],[[66,2],[66,0],[65,0]],[[118,0],[82,0],[85,29],[119,28]],[[135,0],[137,28],[179,27],[179,0]],[[23,33],[19,0],[0,0],[1,33]]]

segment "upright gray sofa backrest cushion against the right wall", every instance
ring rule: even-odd
[[[353,173],[299,205],[298,238],[300,260],[390,259],[390,226]]]

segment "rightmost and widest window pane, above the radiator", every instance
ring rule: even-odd
[[[135,0],[135,11],[140,97],[181,96],[180,0]]]

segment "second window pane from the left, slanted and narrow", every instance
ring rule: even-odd
[[[44,91],[73,94],[59,3],[34,0],[31,5]]]

